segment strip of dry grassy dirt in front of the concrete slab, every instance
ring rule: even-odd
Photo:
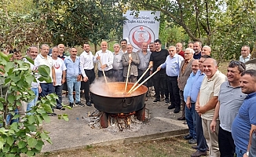
[[[86,148],[67,150],[62,152],[45,152],[41,155],[48,157],[179,157],[190,156],[194,149],[183,137],[168,137],[155,141],[144,141],[133,144],[110,145],[110,146],[86,146]]]

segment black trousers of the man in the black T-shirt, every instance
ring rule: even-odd
[[[160,74],[160,73],[156,73],[154,76],[153,76],[153,84],[154,84],[154,87],[155,87],[155,98],[160,100],[160,83],[163,82],[163,89],[164,91],[166,91],[165,95],[166,97],[169,97],[169,94],[167,93],[168,91],[168,88],[166,86],[166,80],[167,78],[167,75],[166,73],[163,73],[163,74]]]

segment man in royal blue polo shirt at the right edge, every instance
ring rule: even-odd
[[[251,134],[256,130],[256,71],[247,70],[241,76],[240,87],[242,92],[248,95],[243,100],[231,128],[237,157],[249,155]]]

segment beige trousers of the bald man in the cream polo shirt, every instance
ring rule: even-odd
[[[219,157],[220,151],[218,148],[218,130],[220,127],[220,121],[216,121],[216,128],[215,132],[212,132],[210,130],[210,122],[211,120],[202,119],[202,126],[203,126],[203,135],[205,139],[207,140],[207,144],[209,147],[209,156],[210,157]]]

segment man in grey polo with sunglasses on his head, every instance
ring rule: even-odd
[[[222,156],[234,156],[235,144],[232,139],[231,126],[236,118],[243,100],[247,94],[242,93],[240,87],[241,74],[245,71],[245,64],[231,61],[227,69],[228,81],[223,82],[218,96],[218,103],[214,112],[214,119],[210,123],[210,130],[218,130],[218,147]],[[230,98],[232,97],[232,99]],[[220,126],[218,125],[218,119]]]

